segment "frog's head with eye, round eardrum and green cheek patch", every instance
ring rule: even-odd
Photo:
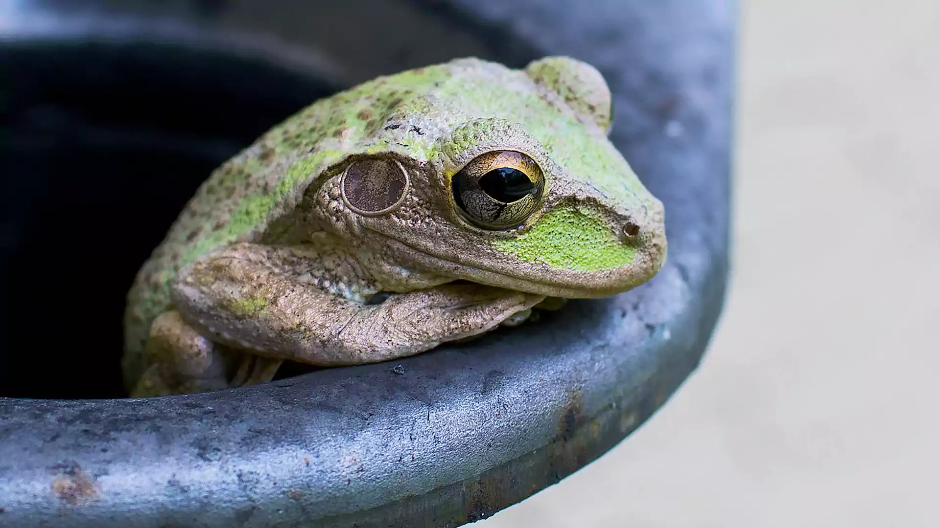
[[[567,57],[522,71],[477,59],[431,68],[333,179],[343,223],[370,255],[386,269],[566,298],[659,271],[663,206],[607,139],[597,70]]]

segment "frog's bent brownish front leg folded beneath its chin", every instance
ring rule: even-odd
[[[207,256],[180,272],[174,303],[216,343],[309,365],[357,365],[482,334],[544,299],[448,283],[360,303],[311,276],[320,264],[299,253],[243,243]]]

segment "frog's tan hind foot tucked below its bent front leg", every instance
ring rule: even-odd
[[[151,365],[131,391],[132,397],[203,393],[274,378],[281,360],[234,353],[212,343],[176,311],[165,312],[150,326],[147,355]],[[234,377],[228,372],[238,364]]]

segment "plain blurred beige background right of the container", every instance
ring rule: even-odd
[[[940,1],[744,0],[739,86],[705,361],[475,526],[940,526]]]

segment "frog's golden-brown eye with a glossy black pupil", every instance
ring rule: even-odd
[[[541,203],[545,177],[522,152],[495,150],[474,158],[451,179],[454,202],[473,224],[506,229],[525,222]]]

